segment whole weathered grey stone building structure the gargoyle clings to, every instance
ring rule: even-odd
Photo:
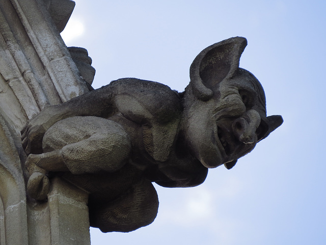
[[[70,0],[0,1],[0,245],[90,244],[88,193],[53,179],[48,202],[26,198],[19,133],[44,107],[89,91],[60,36],[73,7]]]

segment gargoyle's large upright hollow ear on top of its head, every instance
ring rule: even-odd
[[[190,83],[199,100],[210,100],[212,88],[234,75],[246,46],[246,38],[232,37],[208,46],[199,53],[190,67]]]

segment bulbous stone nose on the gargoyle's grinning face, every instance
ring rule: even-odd
[[[257,142],[256,130],[260,124],[260,116],[256,110],[249,110],[235,119],[232,124],[234,136],[244,144]]]

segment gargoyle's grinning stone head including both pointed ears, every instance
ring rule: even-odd
[[[246,38],[233,37],[203,50],[190,68],[185,91],[186,138],[205,167],[232,168],[278,128],[282,116],[266,116],[264,90],[239,68]]]

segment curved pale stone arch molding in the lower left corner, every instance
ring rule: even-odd
[[[28,244],[26,194],[15,145],[17,137],[2,116],[0,138],[0,244]]]

